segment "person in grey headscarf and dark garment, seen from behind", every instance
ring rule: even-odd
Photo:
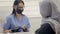
[[[36,34],[60,34],[60,12],[56,4],[51,0],[42,1],[40,13],[43,19]]]

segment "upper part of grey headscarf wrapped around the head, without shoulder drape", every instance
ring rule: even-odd
[[[60,12],[52,0],[43,0],[40,2],[40,13],[43,18],[53,18],[60,22]]]

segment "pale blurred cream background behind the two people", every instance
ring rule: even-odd
[[[27,15],[30,20],[31,28],[30,33],[34,33],[37,28],[40,27],[41,15],[39,10],[39,2],[42,0],[23,0],[25,2],[25,8],[23,14]],[[58,10],[60,11],[60,0],[53,0]],[[2,27],[5,18],[12,13],[14,0],[0,0],[0,33],[2,33]]]

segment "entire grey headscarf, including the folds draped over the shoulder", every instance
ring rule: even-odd
[[[60,12],[56,4],[52,0],[40,2],[40,13],[44,18],[42,24],[48,22],[56,34],[60,34]]]

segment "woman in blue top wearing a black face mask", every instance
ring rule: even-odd
[[[24,2],[22,0],[15,0],[13,5],[13,12],[6,18],[3,31],[7,32],[28,32],[30,23],[28,17],[22,14],[24,10]]]

